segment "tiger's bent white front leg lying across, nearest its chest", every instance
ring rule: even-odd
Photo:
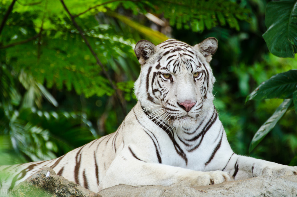
[[[130,155],[120,154],[113,160],[99,184],[98,191],[118,184],[190,187],[233,180],[229,173],[223,171],[194,171],[160,163],[148,163]]]

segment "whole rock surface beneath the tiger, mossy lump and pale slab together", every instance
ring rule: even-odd
[[[131,186],[116,185],[99,193],[57,176],[51,168],[42,168],[20,183],[14,190],[25,191],[16,196],[61,196],[61,197],[180,197],[180,196],[295,196],[297,197],[297,175],[273,177],[259,176],[241,181],[223,182],[200,187],[165,187],[159,185]]]

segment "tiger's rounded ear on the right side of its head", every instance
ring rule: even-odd
[[[206,58],[209,63],[212,55],[217,51],[218,40],[214,37],[209,37],[194,46],[194,49],[200,51],[200,53]]]

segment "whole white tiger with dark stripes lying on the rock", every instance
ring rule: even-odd
[[[297,174],[289,167],[236,155],[227,141],[212,94],[209,62],[217,40],[195,46],[170,39],[140,40],[135,82],[138,103],[110,135],[49,161],[2,166],[1,188],[13,188],[48,166],[92,191],[128,185],[200,186],[268,175]]]

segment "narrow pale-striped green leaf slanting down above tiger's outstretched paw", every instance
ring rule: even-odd
[[[249,144],[249,152],[251,152],[262,139],[273,129],[275,124],[279,121],[279,119],[285,114],[288,107],[292,103],[292,99],[285,99],[279,107],[275,110],[270,118],[257,130],[256,134],[254,135],[251,144]]]

